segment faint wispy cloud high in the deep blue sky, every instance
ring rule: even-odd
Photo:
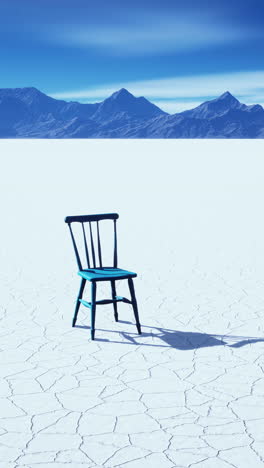
[[[120,23],[65,26],[49,29],[49,40],[102,50],[112,55],[157,55],[200,50],[255,37],[256,31],[226,24],[216,15],[197,11],[172,12],[170,16],[153,12]]]

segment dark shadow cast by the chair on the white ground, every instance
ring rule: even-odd
[[[135,326],[134,323],[119,320],[119,323],[125,323],[128,325]],[[90,329],[86,325],[75,325],[75,328]],[[98,331],[118,333],[125,340],[111,340],[107,338],[96,338],[95,341],[110,342],[110,343],[120,343],[120,344],[132,344],[135,346],[151,346],[151,347],[160,347],[160,348],[175,348],[181,351],[188,351],[191,349],[198,348],[211,348],[213,346],[228,346],[230,348],[241,348],[248,344],[264,342],[264,338],[255,338],[255,337],[245,337],[245,336],[233,336],[233,335],[218,335],[218,334],[209,334],[202,332],[183,332],[180,330],[172,330],[169,328],[162,327],[151,327],[148,325],[142,325],[142,328],[150,329],[150,332],[142,332],[141,335],[129,332],[120,332],[118,330],[106,330],[103,328],[98,328]],[[154,333],[152,332],[154,331]],[[157,333],[156,333],[157,332]],[[143,339],[152,338],[152,343],[144,343]],[[157,338],[161,340],[162,343],[157,343]],[[155,342],[154,342],[155,340]],[[231,342],[231,344],[230,344]],[[233,342],[233,343],[232,343]]]

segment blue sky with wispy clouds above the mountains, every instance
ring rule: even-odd
[[[121,87],[168,112],[226,90],[264,103],[263,0],[1,0],[0,87],[100,101]]]

